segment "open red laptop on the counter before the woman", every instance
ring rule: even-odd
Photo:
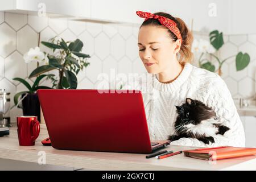
[[[120,91],[39,89],[52,147],[149,154],[170,144],[150,141],[141,91]]]

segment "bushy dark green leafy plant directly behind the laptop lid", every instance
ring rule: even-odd
[[[31,72],[29,78],[36,77],[57,69],[59,75],[49,75],[52,80],[52,88],[56,89],[76,89],[76,75],[89,65],[87,58],[90,57],[81,53],[84,44],[76,39],[73,42],[65,42],[59,37],[55,37],[50,42],[41,42],[44,46],[51,48],[53,55],[48,55],[48,64],[42,65]]]

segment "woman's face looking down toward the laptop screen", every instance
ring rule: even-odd
[[[139,30],[139,57],[148,73],[156,74],[170,70],[179,52],[179,40],[173,42],[166,28],[143,26]]]

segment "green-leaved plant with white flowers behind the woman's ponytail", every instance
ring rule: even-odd
[[[218,75],[222,75],[221,67],[225,63],[226,60],[236,57],[236,69],[237,71],[241,71],[242,69],[245,69],[247,65],[250,63],[250,56],[248,53],[242,53],[238,52],[236,55],[232,55],[229,57],[226,57],[225,59],[221,60],[217,55],[220,48],[224,45],[224,39],[222,32],[218,32],[218,30],[214,30],[209,33],[209,42],[207,40],[200,39],[194,40],[192,45],[192,51],[194,53],[200,53],[199,56],[199,67],[207,69],[211,72],[217,72]],[[212,61],[207,58],[203,57],[204,55],[210,55],[214,57],[215,60],[217,60],[217,70],[215,65],[212,63]]]

